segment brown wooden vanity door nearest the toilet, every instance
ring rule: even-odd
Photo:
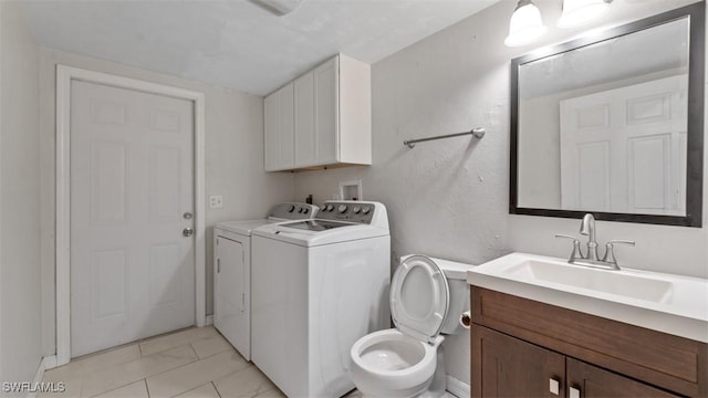
[[[473,325],[472,397],[563,396],[565,357]]]

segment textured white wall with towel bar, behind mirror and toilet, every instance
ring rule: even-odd
[[[615,0],[600,24],[622,23],[687,4]],[[550,28],[540,48],[582,30],[554,27],[561,2],[535,1]],[[373,165],[295,175],[295,197],[331,199],[337,181],[363,180],[363,198],[388,207],[394,258],[424,253],[481,263],[511,251],[566,256],[579,221],[508,214],[509,71],[533,48],[503,45],[516,1],[502,1],[372,66]],[[487,128],[483,139],[403,140]],[[708,209],[708,207],[706,207]],[[598,238],[635,239],[618,258],[635,268],[708,276],[706,229],[598,222]],[[448,374],[469,383],[469,335],[445,343]]]

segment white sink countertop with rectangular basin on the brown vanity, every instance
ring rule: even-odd
[[[470,285],[708,343],[708,280],[511,253],[467,272]]]

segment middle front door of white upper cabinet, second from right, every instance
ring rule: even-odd
[[[316,165],[314,73],[295,80],[295,167]]]

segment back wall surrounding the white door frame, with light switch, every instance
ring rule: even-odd
[[[42,331],[43,353],[55,352],[54,325],[54,134],[55,66],[64,64],[167,84],[205,93],[206,196],[222,195],[222,209],[207,209],[207,314],[212,312],[211,229],[233,219],[262,218],[278,202],[292,200],[290,174],[263,171],[262,97],[215,87],[116,63],[40,50],[41,176],[42,176]],[[233,71],[238,73],[238,71]],[[208,203],[208,200],[207,200]]]

